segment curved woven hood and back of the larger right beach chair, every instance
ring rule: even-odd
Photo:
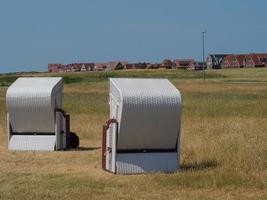
[[[117,99],[116,108],[111,104],[111,111],[117,113],[115,118],[119,122],[119,150],[176,147],[181,96],[170,81],[112,78],[110,96]]]

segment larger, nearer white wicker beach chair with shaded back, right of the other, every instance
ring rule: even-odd
[[[179,168],[180,92],[167,79],[111,78],[102,168],[117,174]]]

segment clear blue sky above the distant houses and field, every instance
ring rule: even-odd
[[[0,72],[267,52],[266,0],[1,0]]]

